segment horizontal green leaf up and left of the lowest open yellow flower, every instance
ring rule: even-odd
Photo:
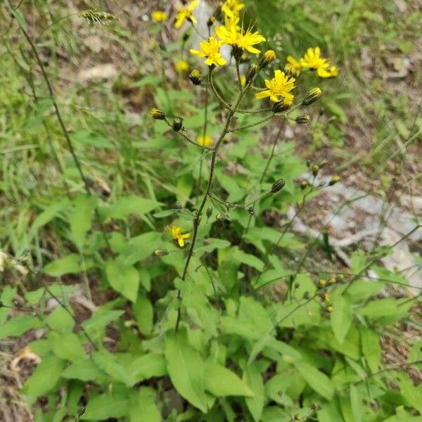
[[[124,219],[128,215],[145,215],[155,208],[158,208],[160,203],[155,200],[142,198],[141,196],[121,196],[113,205],[104,205],[100,208],[100,215],[102,219],[118,218]]]

